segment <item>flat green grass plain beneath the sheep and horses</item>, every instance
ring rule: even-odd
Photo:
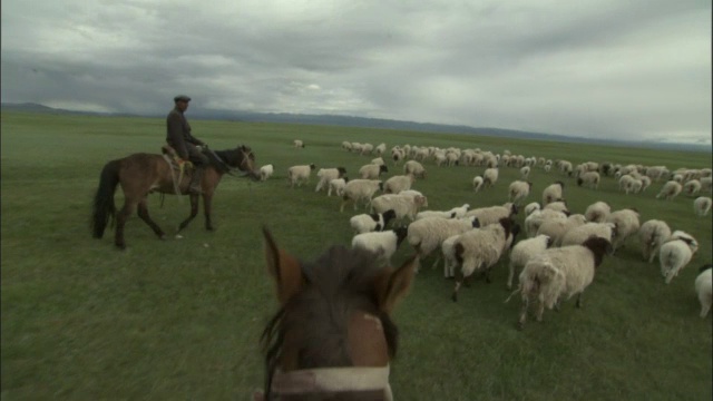
[[[373,156],[340,148],[342,140],[384,141],[587,160],[711,167],[711,154],[614,148],[492,137],[420,134],[362,128],[192,120],[214,149],[245,143],[260,165],[275,165],[262,184],[226,176],[214,198],[216,232],[199,215],[183,239],[158,241],[133,216],[128,248],[113,245],[113,232],[91,238],[90,204],[99,172],[110,159],[157,153],[163,119],[75,117],[3,113],[2,199],[2,399],[196,399],[247,398],[263,380],[258,338],[276,307],[264,267],[261,226],[300,258],[330,244],[349,244],[352,209],[309,186],[291,190],[289,166],[344,166],[350,177]],[[303,139],[304,149],[292,148]],[[414,188],[430,208],[469,203],[502,204],[519,177],[501,168],[495,188],[475,194],[482,167],[437,168]],[[389,164],[389,176],[401,174]],[[663,183],[625,196],[614,178],[598,190],[536,168],[533,195],[556,179],[566,183],[572,211],[605,199],[613,209],[636,207],[642,222],[661,218],[693,234],[701,248],[672,284],[658,265],[641,262],[631,239],[605,258],[585,294],[541,324],[515,330],[519,299],[504,303],[506,264],[494,283],[475,281],[450,300],[451,281],[423,263],[410,295],[394,313],[401,331],[391,384],[401,400],[710,400],[711,316],[700,319],[693,291],[697,267],[711,261],[711,216],[696,217],[692,198],[655,199]],[[121,202],[120,190],[117,202]],[[149,212],[168,232],[188,214],[188,199],[167,196]],[[361,211],[360,211],[361,213]],[[521,224],[522,216],[518,216]],[[411,253],[408,244],[394,264]]]

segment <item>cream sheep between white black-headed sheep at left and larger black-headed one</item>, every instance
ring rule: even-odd
[[[436,251],[446,238],[480,227],[473,217],[439,218],[430,217],[409,224],[408,241],[422,261]],[[434,265],[438,264],[438,260]]]

